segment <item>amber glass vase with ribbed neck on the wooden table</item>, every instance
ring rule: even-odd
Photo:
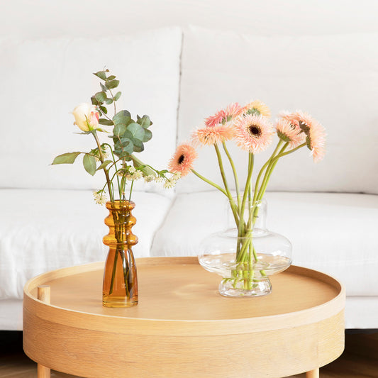
[[[102,304],[106,307],[131,307],[138,304],[138,279],[133,255],[133,245],[138,238],[131,228],[135,216],[131,211],[135,204],[131,201],[107,202],[109,216],[105,218],[109,234],[104,236],[104,244],[109,246],[104,269]]]

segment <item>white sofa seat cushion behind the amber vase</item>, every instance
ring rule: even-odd
[[[146,257],[171,200],[135,191],[133,201],[133,252]],[[90,191],[1,189],[0,209],[0,299],[21,299],[23,285],[40,273],[106,258],[109,211]]]

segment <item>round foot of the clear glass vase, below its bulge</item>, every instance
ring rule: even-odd
[[[223,279],[219,284],[219,293],[223,296],[232,296],[236,298],[251,297],[251,296],[264,296],[272,292],[272,284],[269,278],[256,279],[250,284],[247,283],[248,289],[245,289],[244,282],[234,284],[234,280]]]

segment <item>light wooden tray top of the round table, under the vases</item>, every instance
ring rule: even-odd
[[[213,323],[233,326],[248,322],[275,328],[274,323],[319,321],[343,308],[340,283],[320,272],[301,267],[270,277],[272,294],[255,298],[226,298],[218,293],[221,277],[206,272],[196,257],[155,257],[137,260],[139,304],[131,308],[102,306],[103,263],[59,269],[28,282],[26,297],[37,300],[37,286],[50,285],[50,308],[80,314],[157,323]],[[300,318],[303,318],[301,321]],[[289,326],[291,322],[286,323]],[[198,324],[197,324],[198,325]]]

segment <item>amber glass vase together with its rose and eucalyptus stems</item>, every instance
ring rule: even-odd
[[[89,174],[104,172],[104,187],[94,192],[95,201],[106,203],[109,209],[109,216],[105,219],[109,235],[104,237],[104,244],[109,246],[109,254],[104,270],[103,305],[128,307],[138,304],[138,281],[132,252],[138,238],[131,232],[136,222],[131,214],[135,207],[131,201],[133,184],[137,179],[145,179],[146,182],[164,182],[165,187],[173,187],[180,174],[155,169],[135,156],[135,152],[142,152],[145,143],[152,138],[150,117],[137,116],[134,120],[129,111],[117,111],[116,102],[121,91],[113,93],[119,84],[116,76],[109,74],[109,70],[95,75],[101,79],[101,91],[91,96],[91,104],[80,104],[72,114],[74,124],[82,130],[80,134],[91,135],[96,146],[87,152],[59,155],[52,164],[72,164],[82,155],[84,169]],[[112,116],[109,116],[108,106],[113,110]],[[111,132],[106,130],[109,126]],[[109,133],[111,143],[101,143],[98,133]]]

